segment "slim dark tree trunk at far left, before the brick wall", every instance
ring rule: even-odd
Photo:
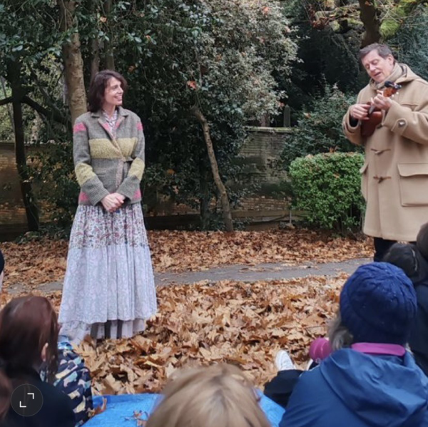
[[[39,230],[39,210],[37,209],[33,189],[31,187],[24,145],[24,120],[22,118],[21,101],[22,98],[24,98],[25,91],[21,86],[21,64],[19,62],[11,62],[8,64],[7,68],[7,79],[11,85],[12,91],[16,168],[19,173],[19,183],[21,185],[21,195],[24,201],[28,227],[30,231],[37,231]]]

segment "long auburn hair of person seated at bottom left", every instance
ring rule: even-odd
[[[0,312],[0,419],[9,410],[15,385],[8,373],[41,366],[46,343],[47,374],[53,380],[58,369],[58,321],[51,303],[30,295],[6,304]]]

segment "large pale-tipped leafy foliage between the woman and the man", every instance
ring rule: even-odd
[[[288,76],[295,58],[287,21],[276,1],[161,0],[147,1],[123,25],[144,34],[140,49],[123,41],[116,63],[128,70],[127,105],[143,118],[148,173],[172,170],[166,182],[165,173],[152,175],[157,189],[212,217],[202,206],[215,206],[217,189],[192,108],[210,124],[223,182],[236,182],[244,126],[276,114],[284,95],[273,74]],[[228,192],[238,200],[240,191]]]

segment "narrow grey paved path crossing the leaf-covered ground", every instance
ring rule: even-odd
[[[236,280],[240,282],[257,282],[258,280],[292,279],[307,276],[336,276],[341,272],[352,273],[357,267],[370,262],[369,258],[349,259],[342,262],[316,264],[305,262],[300,265],[287,266],[282,263],[248,265],[228,265],[216,267],[202,272],[156,273],[158,286],[169,284],[193,284],[195,282],[218,282],[220,280]],[[54,292],[62,289],[62,283],[52,282],[38,287],[42,292]],[[11,294],[24,292],[24,285],[14,285],[8,288]]]

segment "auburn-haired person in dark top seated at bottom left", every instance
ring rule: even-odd
[[[58,322],[48,299],[19,297],[1,310],[0,427],[74,427],[70,398],[40,378],[43,366],[49,379],[56,372],[57,341]],[[41,392],[43,405],[36,413],[27,412],[34,410],[31,405],[14,406],[11,396],[21,384]]]

